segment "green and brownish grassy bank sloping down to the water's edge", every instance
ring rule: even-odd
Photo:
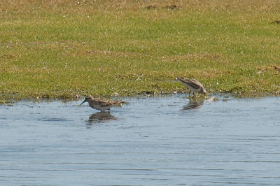
[[[280,94],[280,3],[0,1],[1,100]],[[272,23],[274,22],[274,23]]]

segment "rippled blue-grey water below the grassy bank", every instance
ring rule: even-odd
[[[218,98],[0,106],[0,185],[278,185],[280,98]]]

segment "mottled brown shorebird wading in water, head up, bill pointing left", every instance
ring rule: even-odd
[[[93,98],[92,96],[86,96],[83,103],[85,102],[88,102],[88,105],[91,108],[101,110],[102,112],[105,112],[105,110],[110,110],[112,106],[121,106],[122,103],[125,103],[125,101],[109,101],[106,99]],[[80,103],[80,105],[83,103]]]

